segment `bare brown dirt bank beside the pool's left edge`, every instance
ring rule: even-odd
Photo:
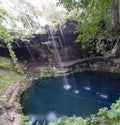
[[[0,94],[0,96],[3,96],[6,98],[7,105],[12,105],[9,109],[6,109],[7,119],[9,121],[12,121],[12,119],[14,119],[12,122],[9,122],[10,125],[21,125],[21,114],[18,111],[18,103],[15,100],[18,95],[18,91],[20,89],[20,84],[21,83],[19,83],[19,82],[15,83],[15,84],[10,84],[4,90],[4,92],[2,94]],[[4,112],[1,115],[6,114],[6,112]],[[9,117],[10,117],[10,119],[9,119]]]

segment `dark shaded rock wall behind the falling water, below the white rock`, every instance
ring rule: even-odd
[[[80,57],[80,44],[74,42],[77,37],[75,24],[75,22],[67,22],[62,26],[58,26],[57,31],[53,32],[57,49],[61,55],[61,60],[65,62]],[[55,62],[53,42],[51,36],[49,36],[49,31],[47,31],[46,28],[45,31],[44,34],[32,34],[31,37],[29,37],[29,42],[14,38],[14,42],[12,43],[13,50],[19,60],[37,60],[40,61],[40,63]],[[0,50],[4,50],[4,53],[0,55],[8,57],[9,53],[7,47],[2,44],[0,45]]]

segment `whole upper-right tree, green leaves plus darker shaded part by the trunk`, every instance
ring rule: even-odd
[[[59,0],[69,11],[73,8],[82,8],[81,20],[76,26],[79,33],[77,42],[82,42],[83,47],[89,46],[103,35],[109,34],[112,28],[111,13],[114,16],[114,24],[119,24],[118,14],[119,0]],[[113,5],[117,9],[113,8]],[[117,11],[117,12],[116,12]],[[79,12],[79,11],[78,11]],[[116,18],[115,18],[116,17]]]

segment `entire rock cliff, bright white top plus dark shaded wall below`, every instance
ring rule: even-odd
[[[14,36],[13,50],[19,63],[28,67],[57,65],[52,40],[46,25],[63,23],[65,10],[56,6],[56,0],[1,0],[0,8],[9,14],[3,25]],[[80,47],[70,47],[76,39],[76,22],[67,22],[58,26],[54,37],[58,44],[59,54],[63,62],[81,57]],[[25,38],[25,39],[24,39]],[[26,41],[29,39],[29,43]],[[9,56],[6,46],[1,56]],[[38,66],[37,65],[37,66]],[[23,66],[23,68],[25,68]]]

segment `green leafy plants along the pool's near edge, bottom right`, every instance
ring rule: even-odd
[[[111,109],[102,108],[98,114],[89,118],[65,117],[54,120],[49,125],[119,125],[120,124],[120,100],[111,105]]]

